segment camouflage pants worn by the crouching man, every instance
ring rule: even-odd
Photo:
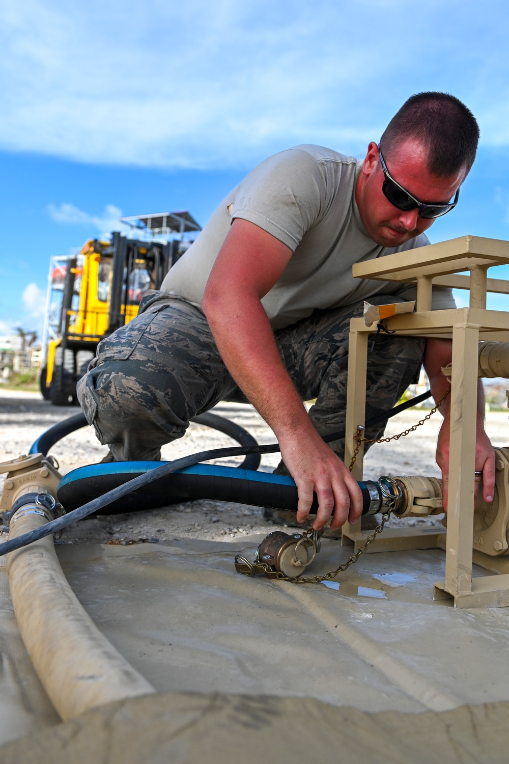
[[[377,304],[395,301],[377,295]],[[308,319],[275,332],[283,363],[302,400],[316,398],[309,416],[321,435],[344,429],[350,319],[362,302],[316,310]],[[366,419],[391,409],[420,370],[422,338],[379,335],[368,356]],[[181,438],[189,419],[220,400],[246,402],[225,367],[195,307],[162,292],[143,298],[138,316],[103,339],[78,397],[98,439],[116,461],[159,458],[165,443]],[[379,437],[380,422],[366,431]],[[344,440],[331,444],[343,458]],[[282,465],[284,470],[284,465]]]

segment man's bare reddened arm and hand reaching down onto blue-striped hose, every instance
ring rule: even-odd
[[[362,512],[359,486],[314,429],[259,299],[246,293],[241,300],[224,295],[205,300],[204,309],[230,374],[279,441],[282,459],[298,488],[297,520],[305,520],[317,494],[314,529],[324,527],[331,513],[332,528],[347,518],[355,523]]]

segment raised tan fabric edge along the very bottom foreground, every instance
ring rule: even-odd
[[[0,749],[2,764],[500,764],[509,703],[369,714],[311,698],[167,692]]]

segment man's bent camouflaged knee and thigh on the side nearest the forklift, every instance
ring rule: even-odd
[[[129,453],[137,443],[160,447],[235,387],[204,321],[177,303],[102,340],[78,390],[102,443],[129,441]]]

